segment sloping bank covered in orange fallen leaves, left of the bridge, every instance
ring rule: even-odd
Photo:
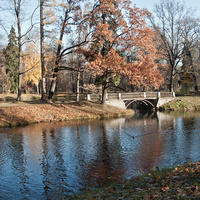
[[[41,122],[118,118],[134,113],[131,109],[104,106],[98,102],[5,104],[0,106],[0,128]]]

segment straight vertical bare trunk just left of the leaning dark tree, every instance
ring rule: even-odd
[[[46,94],[46,79],[44,66],[44,18],[43,18],[44,0],[40,0],[40,57],[41,57],[41,99],[45,99]]]

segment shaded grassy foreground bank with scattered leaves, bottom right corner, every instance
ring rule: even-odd
[[[200,162],[151,170],[123,183],[67,199],[200,199]]]

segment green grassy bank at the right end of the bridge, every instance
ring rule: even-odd
[[[200,97],[198,96],[183,96],[176,97],[173,101],[160,107],[161,111],[199,111]]]

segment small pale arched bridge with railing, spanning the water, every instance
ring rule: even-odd
[[[106,104],[128,108],[133,102],[140,102],[149,108],[159,108],[161,105],[173,100],[174,92],[132,92],[132,93],[107,93]],[[88,94],[88,101],[101,100],[102,95]]]

